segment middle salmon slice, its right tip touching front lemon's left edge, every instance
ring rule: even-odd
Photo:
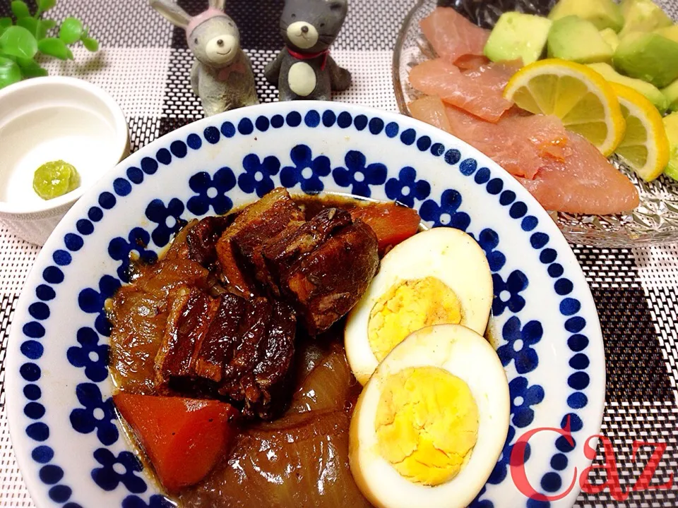
[[[487,63],[462,72],[444,59],[428,60],[412,68],[410,84],[426,95],[438,95],[448,104],[496,122],[513,104],[501,94],[520,67],[518,61]]]

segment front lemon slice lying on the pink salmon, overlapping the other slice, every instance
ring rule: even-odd
[[[624,116],[605,78],[579,63],[547,59],[518,71],[504,97],[534,114],[554,114],[605,157],[624,137]]]

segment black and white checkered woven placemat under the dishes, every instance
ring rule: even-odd
[[[180,0],[179,4],[197,13],[206,0]],[[271,102],[276,92],[263,80],[263,67],[280,49],[278,16],[283,0],[227,4],[254,65],[259,97]],[[335,95],[336,100],[396,111],[391,85],[393,44],[401,20],[414,4],[415,0],[351,0],[333,57],[352,71],[354,83],[347,92]],[[678,1],[663,4],[677,18]],[[0,0],[0,16],[8,11],[9,0]],[[59,0],[53,14],[57,19],[84,20],[102,49],[90,54],[76,48],[75,61],[49,61],[49,72],[75,75],[110,92],[126,114],[132,150],[202,117],[189,85],[191,55],[184,32],[172,28],[145,0]],[[678,245],[573,248],[593,291],[605,337],[607,404],[602,432],[617,451],[622,489],[634,485],[652,452],[645,448],[634,456],[634,440],[667,443],[653,480],[665,483],[671,471],[678,473]],[[9,439],[4,358],[13,309],[39,251],[0,227],[0,508],[33,506]],[[601,461],[599,449],[596,463]],[[596,469],[590,479],[602,483],[605,472]],[[672,490],[631,492],[623,502],[609,492],[582,494],[577,505],[678,507],[676,483]]]

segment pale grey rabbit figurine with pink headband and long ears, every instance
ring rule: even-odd
[[[207,11],[189,16],[172,0],[150,0],[173,25],[186,30],[186,41],[196,57],[191,87],[207,116],[258,104],[254,73],[240,47],[240,32],[224,13],[225,0],[209,0]]]

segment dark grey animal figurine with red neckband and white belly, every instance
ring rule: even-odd
[[[285,47],[266,66],[266,79],[280,100],[331,99],[346,90],[351,73],[330,56],[346,18],[348,0],[286,0],[280,18]]]

